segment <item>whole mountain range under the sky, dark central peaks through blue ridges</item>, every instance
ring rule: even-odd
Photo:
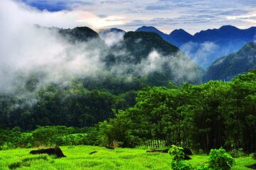
[[[97,44],[105,49],[102,51],[107,54],[102,55],[105,56],[102,57],[102,61],[105,62],[106,70],[113,74],[132,77],[146,76],[149,84],[160,86],[168,84],[169,81],[176,84],[182,84],[184,81],[196,84],[201,82],[204,71],[186,57],[186,46],[191,46],[192,52],[206,55],[207,61],[210,61],[210,57],[205,54],[207,50],[198,50],[198,47],[213,50],[215,55],[211,57],[235,51],[240,45],[254,39],[255,27],[240,30],[233,26],[223,26],[219,29],[203,30],[195,35],[182,29],[174,30],[167,35],[154,27],[146,26],[128,33],[111,28],[100,30],[98,34],[87,27],[60,29],[60,33],[70,40],[96,39]],[[185,54],[172,45],[175,43],[176,46],[185,49]],[[248,69],[256,69],[255,42],[249,42],[238,50],[218,57],[218,60],[210,64],[203,81],[230,80],[237,74],[247,72]],[[203,61],[199,63],[202,64]]]

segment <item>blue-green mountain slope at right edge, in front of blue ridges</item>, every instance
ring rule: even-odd
[[[249,42],[238,52],[213,62],[203,76],[203,81],[230,80],[249,69],[256,69],[256,42]]]

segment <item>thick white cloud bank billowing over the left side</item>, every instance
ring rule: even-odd
[[[7,0],[1,4],[4,4],[0,6],[1,92],[22,88],[33,74],[41,75],[40,88],[50,83],[65,85],[73,77],[86,77],[104,67],[100,60],[106,47],[99,39],[71,43],[59,34],[58,28],[34,25],[35,21],[47,25],[56,16],[64,18],[65,12],[38,11]]]

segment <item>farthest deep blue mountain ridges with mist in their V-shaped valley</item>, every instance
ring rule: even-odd
[[[167,42],[180,47],[191,60],[203,68],[256,39],[256,27],[240,30],[234,26],[222,26],[218,29],[201,30],[195,35],[182,29],[174,30],[168,35],[151,26],[142,26],[136,31],[159,34]]]

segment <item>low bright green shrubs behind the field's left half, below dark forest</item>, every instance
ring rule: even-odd
[[[66,145],[94,145],[88,134],[91,130],[86,128],[67,128],[65,126],[38,127],[31,132],[21,132],[14,128],[6,131],[0,149],[11,149],[16,147],[55,147]]]

